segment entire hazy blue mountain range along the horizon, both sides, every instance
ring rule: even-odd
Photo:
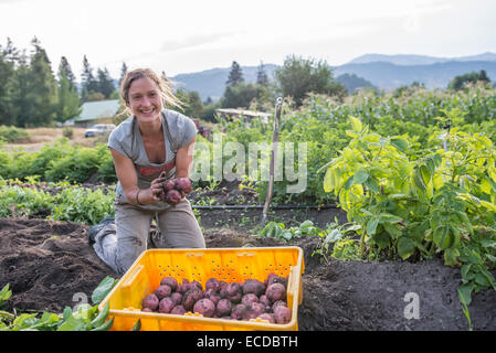
[[[273,79],[274,72],[278,66],[264,64],[264,67],[270,79]],[[429,89],[446,88],[455,76],[481,69],[485,69],[490,81],[496,82],[496,54],[483,53],[453,58],[366,54],[345,65],[331,68],[337,81],[347,81],[350,85],[351,81],[355,81],[353,85],[361,87],[370,84],[381,89],[391,89],[418,82],[423,83]],[[256,82],[257,66],[242,66],[242,69],[246,82]],[[177,83],[177,88],[197,90],[202,100],[208,97],[218,100],[224,94],[230,71],[231,67],[212,68],[199,73],[180,74],[171,79]],[[345,74],[349,76],[342,76]]]

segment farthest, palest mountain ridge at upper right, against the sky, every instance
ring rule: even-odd
[[[384,54],[365,54],[350,61],[348,64],[369,64],[376,62],[386,62],[394,65],[431,65],[446,62],[496,62],[496,54],[483,53],[471,56],[460,57],[435,57],[426,55],[384,55]]]

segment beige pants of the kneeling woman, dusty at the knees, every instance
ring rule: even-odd
[[[148,247],[152,218],[157,216],[160,248],[204,248],[205,242],[191,204],[182,199],[165,211],[148,211],[131,204],[115,204],[115,225],[104,227],[93,245],[99,258],[124,275]],[[114,229],[113,229],[114,227]]]

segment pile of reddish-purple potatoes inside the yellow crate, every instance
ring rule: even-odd
[[[246,279],[228,284],[210,278],[205,288],[196,280],[165,277],[160,286],[143,300],[143,311],[171,314],[200,313],[205,318],[228,320],[261,319],[288,323],[292,310],[286,302],[287,277],[270,274],[262,282]]]

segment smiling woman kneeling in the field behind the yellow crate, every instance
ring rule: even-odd
[[[126,74],[120,95],[133,114],[108,138],[118,183],[115,200],[116,233],[98,232],[98,256],[123,275],[147,249],[156,216],[165,247],[204,248],[205,243],[189,201],[171,206],[159,197],[160,173],[166,179],[189,178],[197,136],[194,122],[165,105],[179,107],[168,83],[148,68]],[[89,235],[91,236],[91,235]]]

